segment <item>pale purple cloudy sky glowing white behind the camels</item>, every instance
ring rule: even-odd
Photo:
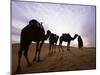
[[[36,19],[43,22],[45,31],[50,30],[59,36],[62,33],[70,33],[72,37],[79,34],[85,47],[96,46],[95,6],[12,1],[11,15],[12,43],[19,43],[21,29],[31,19]],[[77,38],[71,46],[77,47]]]

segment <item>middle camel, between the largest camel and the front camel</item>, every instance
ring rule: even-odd
[[[55,50],[53,51],[53,48],[56,49],[58,38],[59,38],[58,35],[51,33],[49,37],[49,53],[48,53],[49,55],[56,52]]]

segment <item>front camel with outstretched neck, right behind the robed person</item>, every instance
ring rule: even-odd
[[[62,49],[62,42],[68,42],[67,43],[67,50],[69,51],[70,50],[70,42],[72,40],[75,40],[75,38],[78,36],[78,34],[75,34],[74,37],[71,37],[71,35],[69,33],[63,33],[61,35],[61,37],[59,38],[59,51],[60,51],[60,48]],[[63,51],[63,49],[62,49]]]

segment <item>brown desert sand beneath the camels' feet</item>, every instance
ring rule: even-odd
[[[48,44],[44,44],[41,50],[41,61],[38,63],[33,61],[36,44],[32,43],[29,47],[28,58],[32,63],[31,67],[27,67],[27,62],[22,56],[21,69],[19,73],[39,73],[39,72],[57,72],[57,71],[73,71],[73,70],[90,70],[96,69],[96,48],[75,48],[71,47],[67,51],[67,47],[63,47],[64,52],[59,52],[57,46],[56,53],[48,55]],[[18,65],[19,44],[12,44],[11,70],[16,73]]]

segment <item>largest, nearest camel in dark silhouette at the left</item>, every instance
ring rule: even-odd
[[[32,41],[36,42],[36,52],[33,61],[38,61],[38,62],[40,61],[41,47],[50,34],[51,32],[48,30],[47,34],[45,35],[45,30],[44,27],[42,26],[42,23],[39,23],[35,19],[29,21],[29,24],[26,27],[24,27],[21,31],[17,71],[21,70],[20,61],[21,61],[22,52],[24,52],[24,56],[26,58],[28,66],[31,66],[27,54],[28,54],[29,45],[32,43]]]

